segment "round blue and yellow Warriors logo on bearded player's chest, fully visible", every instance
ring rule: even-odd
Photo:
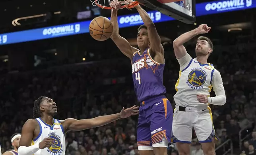
[[[192,89],[202,89],[203,84],[206,81],[207,73],[202,68],[192,68],[188,74],[188,81],[186,82],[188,87]]]

